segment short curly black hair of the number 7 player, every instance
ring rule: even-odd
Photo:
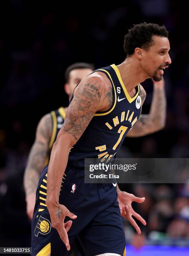
[[[168,37],[168,34],[165,26],[158,24],[144,22],[134,25],[124,36],[124,51],[127,56],[134,54],[134,49],[137,47],[147,51],[154,43],[152,36]]]

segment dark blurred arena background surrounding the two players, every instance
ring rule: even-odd
[[[167,122],[158,133],[126,138],[118,157],[189,158],[189,38],[184,25],[188,14],[185,5],[173,0],[96,3],[92,11],[79,4],[65,7],[62,1],[5,2],[0,15],[0,246],[29,246],[22,179],[37,123],[42,115],[67,106],[63,84],[68,65],[85,61],[99,68],[125,59],[123,38],[133,24],[164,24],[169,31]],[[148,113],[152,82],[142,85],[147,91],[142,113]],[[147,221],[141,243],[146,238],[189,237],[189,181],[120,187],[146,197],[135,205]],[[128,239],[135,236],[127,222],[125,229]]]

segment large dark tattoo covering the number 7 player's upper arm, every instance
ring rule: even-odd
[[[94,109],[101,99],[101,94],[94,84],[84,84],[78,90],[68,110],[62,126],[63,131],[72,134],[77,141],[85,131],[94,115]]]

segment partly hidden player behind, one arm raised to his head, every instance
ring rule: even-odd
[[[83,77],[93,72],[93,70],[94,67],[91,64],[82,62],[67,67],[65,72],[65,91],[69,96],[69,100],[76,84],[78,84]],[[145,136],[164,128],[166,119],[164,79],[162,78],[159,82],[153,82],[154,90],[150,113],[148,115],[140,115],[138,122],[134,125],[131,131],[129,131],[127,137]],[[62,127],[66,111],[67,108],[61,107],[58,110],[44,115],[37,126],[35,142],[30,151],[24,177],[27,215],[30,219],[32,219],[33,216],[35,194],[40,174],[50,159],[52,145]]]

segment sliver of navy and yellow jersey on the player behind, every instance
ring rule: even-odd
[[[47,152],[47,156],[46,156],[46,160],[45,160],[45,165],[49,163],[52,146],[53,146],[54,142],[56,141],[58,132],[60,131],[60,129],[64,123],[64,119],[65,119],[65,115],[66,115],[65,109],[63,107],[60,107],[57,110],[51,111],[50,114],[52,116],[52,136],[50,138],[50,143],[49,143],[49,148],[48,148],[48,152]]]

